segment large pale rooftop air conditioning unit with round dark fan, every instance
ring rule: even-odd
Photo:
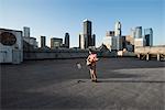
[[[0,29],[0,63],[23,62],[22,31]]]

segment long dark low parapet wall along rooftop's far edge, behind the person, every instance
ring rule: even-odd
[[[23,59],[65,59],[65,58],[82,58],[89,55],[88,51],[24,51]],[[114,57],[117,53],[99,52],[97,51],[98,57]]]

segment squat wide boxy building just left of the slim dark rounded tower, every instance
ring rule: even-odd
[[[52,37],[51,48],[58,48],[63,46],[63,38]]]

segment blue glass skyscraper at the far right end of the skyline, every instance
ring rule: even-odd
[[[153,46],[153,30],[144,29],[145,46]]]

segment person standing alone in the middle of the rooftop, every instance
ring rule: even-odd
[[[98,61],[97,54],[95,54],[91,50],[89,50],[89,56],[87,58],[87,65],[90,69],[90,78],[91,81],[97,82],[97,74],[96,74],[96,62]]]

